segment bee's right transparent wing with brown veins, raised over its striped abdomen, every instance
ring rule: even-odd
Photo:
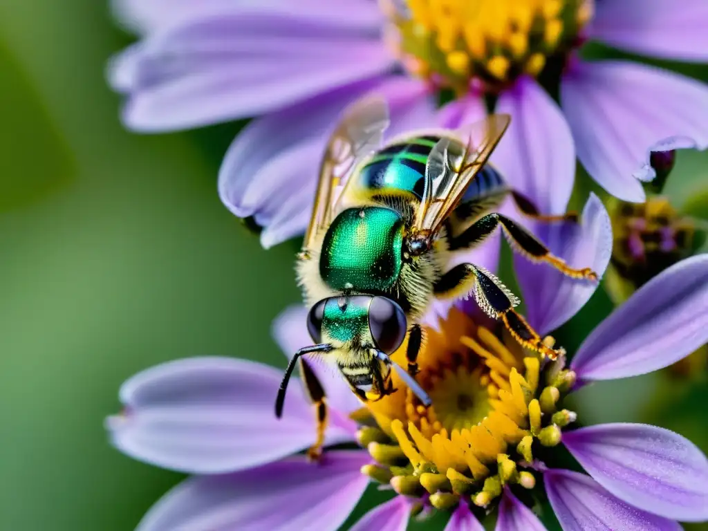
[[[442,138],[435,144],[426,163],[423,200],[416,212],[419,232],[438,232],[489,159],[510,121],[506,114],[490,115],[457,130],[455,137]]]

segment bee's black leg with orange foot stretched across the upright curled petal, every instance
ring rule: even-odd
[[[528,229],[513,222],[508,217],[492,212],[481,217],[472,227],[449,241],[450,251],[455,251],[462,247],[469,247],[489,236],[494,229],[501,224],[507,241],[514,251],[523,254],[532,262],[546,262],[559,270],[564,275],[571,278],[586,278],[588,280],[598,280],[598,275],[590,268],[571,268],[562,258],[555,256],[544,246],[544,244],[531,234]]]

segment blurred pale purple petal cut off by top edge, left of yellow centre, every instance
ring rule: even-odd
[[[302,14],[316,17],[341,28],[374,33],[382,23],[382,13],[367,0],[299,0],[297,9],[288,0],[113,0],[113,15],[139,33],[150,33],[169,26],[196,21],[208,16],[233,16],[253,11]],[[346,10],[346,16],[342,16]],[[297,13],[295,13],[297,11]]]

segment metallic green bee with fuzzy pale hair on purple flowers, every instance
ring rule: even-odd
[[[324,442],[327,411],[324,389],[305,355],[333,361],[362,401],[396,390],[393,368],[428,406],[430,398],[415,375],[423,344],[418,321],[433,297],[472,293],[521,345],[549,358],[559,354],[561,349],[546,346],[515,312],[519,299],[495,275],[472,263],[447,267],[455,251],[478,244],[501,224],[513,248],[530,260],[547,262],[573,278],[597,278],[588,268],[569,268],[527,229],[495,212],[511,195],[529,217],[570,217],[540,215],[486,164],[509,122],[508,115],[491,115],[461,130],[412,132],[382,146],[389,125],[384,101],[365,98],[343,114],[321,164],[297,263],[316,344],[292,358],[275,402],[280,417],[287,382],[299,362],[318,418],[312,456]],[[406,336],[404,370],[389,355]]]

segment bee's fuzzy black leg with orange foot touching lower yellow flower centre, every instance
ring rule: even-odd
[[[515,312],[519,299],[501,283],[495,275],[471,263],[456,265],[442,275],[435,285],[435,294],[456,297],[462,293],[474,293],[474,299],[484,313],[493,319],[501,319],[506,329],[518,343],[530,350],[546,355],[552,360],[565,353],[563,348],[549,347],[526,320]]]

